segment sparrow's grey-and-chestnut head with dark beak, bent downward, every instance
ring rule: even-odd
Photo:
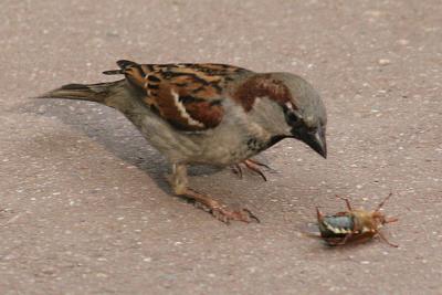
[[[240,96],[245,110],[274,134],[271,145],[292,137],[327,157],[326,109],[307,81],[290,73],[256,74],[240,87]]]

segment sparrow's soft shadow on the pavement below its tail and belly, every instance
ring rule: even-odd
[[[85,134],[123,161],[143,171],[167,193],[171,193],[166,175],[170,164],[154,149],[136,127],[119,112],[91,102],[30,98],[12,109],[61,120]],[[190,167],[190,176],[213,175],[221,169],[209,166]]]

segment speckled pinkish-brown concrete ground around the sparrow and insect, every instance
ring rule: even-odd
[[[124,3],[125,2],[125,3]],[[442,294],[442,3],[0,3],[1,294]],[[101,82],[118,59],[222,62],[307,77],[329,113],[329,158],[286,140],[267,182],[193,169],[194,187],[261,224],[224,225],[169,196],[164,158],[122,115],[32,101]],[[379,241],[327,249],[315,206],[373,207]]]

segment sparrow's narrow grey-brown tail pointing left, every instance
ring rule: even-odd
[[[38,98],[66,98],[106,104],[106,98],[114,93],[114,89],[120,85],[122,82],[123,81],[97,84],[67,84],[40,95]]]

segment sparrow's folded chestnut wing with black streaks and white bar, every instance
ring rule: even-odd
[[[137,64],[118,61],[124,74],[146,94],[143,99],[158,116],[185,131],[217,127],[224,115],[223,84],[248,70],[222,64]]]

